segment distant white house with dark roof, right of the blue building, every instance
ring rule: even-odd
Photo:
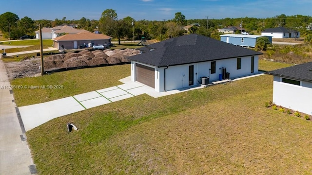
[[[272,36],[273,38],[299,38],[300,33],[285,27],[276,27],[265,29],[261,32],[263,36]]]

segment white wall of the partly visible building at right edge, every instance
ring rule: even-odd
[[[300,86],[273,78],[273,103],[302,113],[312,114],[312,83],[300,81]]]

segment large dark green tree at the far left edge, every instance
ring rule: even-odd
[[[0,15],[0,30],[4,36],[11,36],[14,34],[13,29],[17,28],[19,17],[11,12],[5,12]],[[13,33],[12,33],[13,32]]]

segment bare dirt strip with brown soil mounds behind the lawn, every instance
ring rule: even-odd
[[[129,56],[140,52],[135,49],[115,50],[84,50],[79,53],[64,53],[48,56],[44,59],[44,71],[62,68],[92,67],[130,62]],[[25,57],[20,62],[4,63],[10,79],[22,77],[35,77],[41,74],[39,57]]]

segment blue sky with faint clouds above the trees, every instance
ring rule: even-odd
[[[98,20],[106,9],[118,19],[168,20],[181,12],[186,19],[271,18],[285,14],[312,16],[312,0],[5,0],[0,14],[12,12],[19,18]]]

